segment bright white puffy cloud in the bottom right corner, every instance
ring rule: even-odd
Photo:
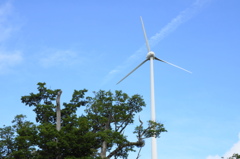
[[[240,154],[240,133],[238,135],[238,138],[239,138],[238,142],[235,143],[222,157],[229,158],[235,153]],[[221,157],[219,155],[215,156],[210,155],[206,159],[221,159]]]

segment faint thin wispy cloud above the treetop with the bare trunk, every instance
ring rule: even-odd
[[[40,65],[48,68],[54,66],[72,66],[84,61],[84,58],[71,50],[47,50],[41,55]]]

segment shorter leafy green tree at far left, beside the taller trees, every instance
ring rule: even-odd
[[[1,157],[32,158],[37,134],[36,125],[25,121],[26,116],[17,115],[13,126],[0,128]]]

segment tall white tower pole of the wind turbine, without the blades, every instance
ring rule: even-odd
[[[150,57],[150,88],[151,88],[151,119],[156,121],[155,117],[155,96],[154,96],[154,70],[153,70],[154,56]],[[157,159],[157,139],[152,137],[152,159]]]

